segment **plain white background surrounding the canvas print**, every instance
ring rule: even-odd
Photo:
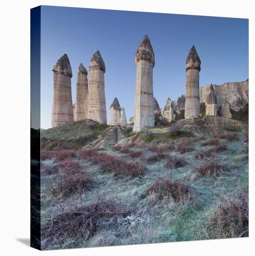
[[[251,255],[254,252],[255,7],[252,0],[2,0],[0,4],[1,255]],[[179,13],[249,19],[249,238],[44,251],[30,236],[30,8],[39,5]],[[103,22],[102,22],[103,25]],[[139,24],[137,24],[139,26]],[[58,27],[56,26],[56,29]]]

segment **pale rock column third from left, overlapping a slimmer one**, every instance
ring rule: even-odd
[[[105,62],[98,50],[91,58],[89,71],[89,118],[106,124]]]

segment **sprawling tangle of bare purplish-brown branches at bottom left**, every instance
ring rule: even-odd
[[[88,205],[69,206],[60,209],[60,213],[46,220],[42,226],[42,238],[48,243],[59,243],[67,238],[87,240],[95,234],[101,225],[116,223],[118,217],[130,213],[124,206],[112,199],[98,199]]]

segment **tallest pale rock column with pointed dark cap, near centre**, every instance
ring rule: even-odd
[[[152,71],[155,65],[154,52],[147,35],[144,36],[137,49],[135,62],[137,64],[134,129],[139,132],[146,127],[154,127],[154,100],[152,87]]]

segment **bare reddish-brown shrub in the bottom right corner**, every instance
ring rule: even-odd
[[[219,197],[215,212],[208,221],[210,238],[234,238],[248,236],[248,193],[237,199]]]

